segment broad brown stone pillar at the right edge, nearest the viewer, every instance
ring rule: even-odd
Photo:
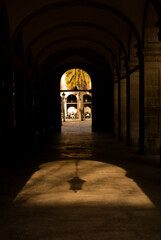
[[[145,152],[159,154],[161,145],[161,52],[145,49],[144,74]]]

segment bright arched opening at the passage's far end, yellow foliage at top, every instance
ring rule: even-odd
[[[92,129],[92,82],[83,69],[66,71],[60,80],[62,132]]]

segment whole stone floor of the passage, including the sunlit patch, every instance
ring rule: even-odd
[[[68,128],[21,158],[1,171],[1,240],[161,239],[158,156]]]

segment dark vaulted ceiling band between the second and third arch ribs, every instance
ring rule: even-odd
[[[56,43],[60,43],[63,40],[65,41],[69,39],[87,39],[88,41],[91,40],[93,42],[100,43],[100,45],[105,45],[106,42],[105,46],[113,49],[115,55],[118,55],[119,53],[120,42],[118,39],[116,39],[110,33],[97,28],[96,26],[89,27],[87,24],[85,24],[80,26],[59,26],[58,29],[52,29],[51,31],[41,35],[41,37],[34,39],[30,45],[30,47],[33,49],[33,57],[39,53],[41,46],[43,46],[44,43],[45,45],[49,46],[52,45],[52,43],[55,45]]]

